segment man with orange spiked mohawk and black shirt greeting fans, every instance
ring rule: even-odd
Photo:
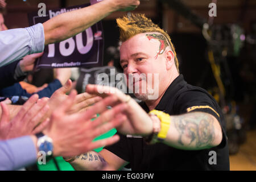
[[[68,161],[77,170],[119,169],[127,163],[132,170],[229,170],[221,109],[206,90],[187,84],[179,74],[170,36],[142,14],[124,16],[117,24],[127,86],[139,88],[134,94],[142,102],[137,104],[116,88],[88,85],[88,93],[117,96],[116,104],[126,105],[118,115],[125,122],[117,127],[119,142]],[[141,74],[146,78],[139,77]],[[150,74],[158,75],[153,83]],[[146,93],[142,92],[143,84]],[[153,92],[159,93],[157,98],[151,98],[150,84]]]

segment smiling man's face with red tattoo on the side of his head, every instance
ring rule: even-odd
[[[161,42],[157,35],[160,34],[138,34],[123,42],[120,47],[120,64],[127,78],[127,86],[142,101],[150,99],[148,96],[152,94],[161,93],[162,84],[159,83],[167,76],[164,50],[168,44]],[[135,77],[135,81],[129,81],[129,76]]]

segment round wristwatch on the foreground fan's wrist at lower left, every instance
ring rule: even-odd
[[[44,137],[40,137],[38,139],[38,149],[39,151],[46,152],[47,156],[51,156],[53,150],[52,139],[47,137],[47,135],[45,135]]]

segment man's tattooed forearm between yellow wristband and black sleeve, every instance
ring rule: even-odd
[[[220,123],[213,115],[193,112],[171,116],[171,125],[163,143],[182,150],[201,150],[221,143]]]

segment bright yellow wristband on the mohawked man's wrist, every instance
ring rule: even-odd
[[[159,139],[165,139],[170,129],[171,117],[169,114],[159,110],[151,110],[150,114],[155,114],[161,121],[161,129],[158,133]]]

